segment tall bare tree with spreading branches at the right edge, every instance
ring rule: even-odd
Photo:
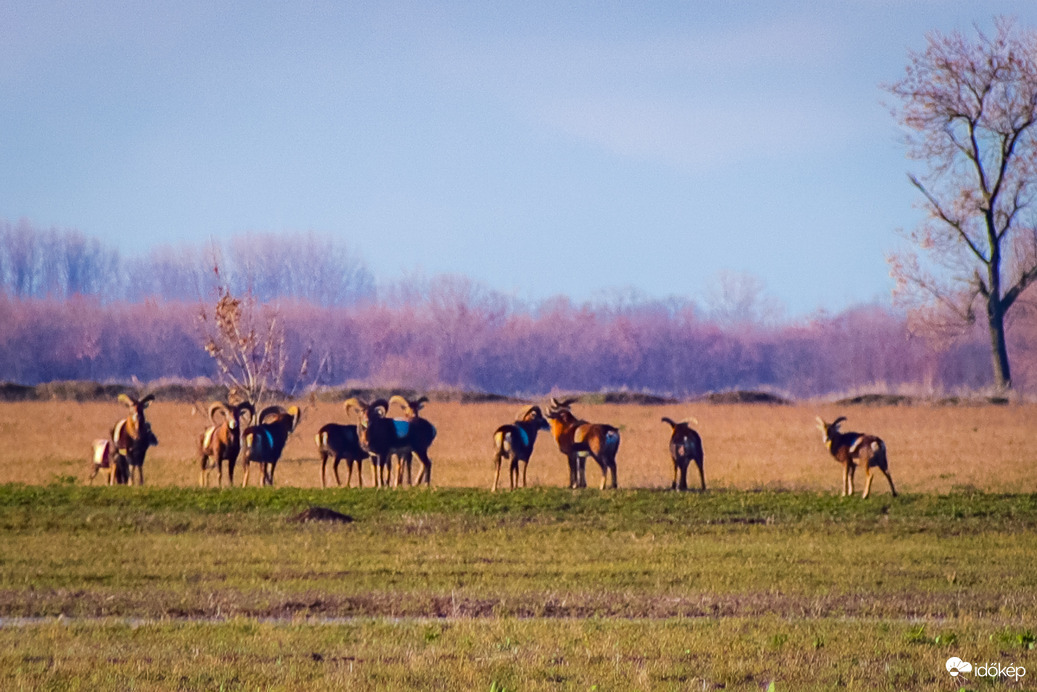
[[[1011,387],[1006,314],[1037,279],[1037,33],[999,19],[989,36],[933,33],[906,75],[885,88],[907,130],[927,219],[913,247],[888,257],[914,324],[973,324],[982,306],[993,381]]]

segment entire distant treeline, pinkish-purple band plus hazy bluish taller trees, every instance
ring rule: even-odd
[[[127,259],[76,231],[24,222],[0,231],[0,381],[218,379],[199,325],[201,305],[215,296],[212,256],[167,248]],[[29,231],[51,248],[28,253],[34,270],[9,264],[11,247],[31,245]],[[295,393],[363,384],[680,398],[745,389],[806,398],[953,393],[990,382],[982,335],[936,350],[913,337],[902,315],[876,306],[760,324],[719,321],[673,299],[527,305],[450,276],[375,290],[356,255],[317,237],[242,237],[216,252],[232,289],[251,288],[276,306],[289,373],[280,386]],[[1033,392],[1037,320],[1025,314],[1010,329],[1014,383]]]

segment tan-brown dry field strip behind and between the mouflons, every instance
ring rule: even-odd
[[[318,487],[314,435],[324,423],[351,422],[339,406],[303,407],[302,423],[277,468],[278,486]],[[488,488],[493,432],[513,420],[518,408],[513,404],[429,404],[424,414],[439,430],[431,448],[433,486]],[[124,411],[115,402],[0,404],[0,482],[48,483],[68,476],[85,482],[91,441],[103,437]],[[621,488],[669,487],[669,426],[660,422],[661,416],[668,415],[698,419],[706,481],[712,487],[838,492],[841,469],[822,446],[814,416],[831,420],[845,415],[846,430],[874,433],[886,440],[890,470],[900,492],[946,493],[970,487],[1037,492],[1031,466],[1037,463],[1037,405],[841,409],[831,405],[599,405],[578,406],[574,411],[587,420],[620,427]],[[204,417],[193,413],[189,405],[161,402],[149,414],[160,446],[148,454],[146,482],[196,485],[195,449],[205,427]],[[564,459],[554,440],[541,436],[530,463],[530,485],[562,486],[567,480]],[[369,468],[365,475],[369,481]],[[235,480],[241,480],[240,469]],[[596,485],[597,480],[596,466],[590,463],[588,482]],[[506,483],[506,470],[502,481]],[[859,474],[859,492],[862,483]],[[884,478],[876,478],[872,492],[889,492]]]

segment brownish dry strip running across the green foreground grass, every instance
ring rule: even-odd
[[[184,599],[151,593],[105,593],[87,589],[0,592],[2,617],[173,617],[209,620],[225,617],[316,618],[641,618],[761,617],[941,619],[996,616],[1003,599],[972,592],[953,602],[927,592],[876,593],[707,593],[653,597],[629,592],[532,592],[507,594],[321,591],[276,594],[267,591],[217,591]]]

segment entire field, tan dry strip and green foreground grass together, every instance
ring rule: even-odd
[[[319,490],[345,413],[303,407],[277,489],[202,492],[189,405],[149,409],[137,490],[82,487],[125,407],[0,404],[0,688],[1037,689],[1037,406],[578,406],[621,428],[622,490],[561,490],[544,436],[539,488],[497,495],[516,405],[427,406],[433,493]],[[652,492],[664,415],[717,492]],[[880,435],[903,496],[836,497],[816,415]],[[291,519],[315,504],[354,521]]]

